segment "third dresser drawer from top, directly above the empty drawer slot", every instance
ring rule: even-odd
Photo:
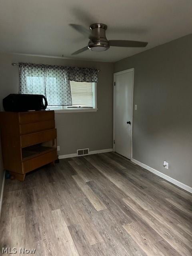
[[[27,146],[32,146],[38,143],[46,142],[57,138],[56,129],[47,130],[43,132],[35,132],[32,134],[26,134],[20,136],[21,147],[25,148]]]

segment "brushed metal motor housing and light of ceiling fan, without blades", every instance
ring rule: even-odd
[[[89,50],[102,52],[109,49],[110,45],[105,34],[106,29],[107,25],[102,23],[96,23],[90,26],[92,39],[88,43]]]

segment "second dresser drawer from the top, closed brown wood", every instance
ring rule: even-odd
[[[55,128],[54,120],[44,120],[41,122],[20,124],[20,134],[28,134],[33,132],[39,132],[42,130],[51,130],[54,128]]]

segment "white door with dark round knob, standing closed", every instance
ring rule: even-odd
[[[134,68],[114,74],[114,151],[132,157]]]

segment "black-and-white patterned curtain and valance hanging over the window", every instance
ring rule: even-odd
[[[19,93],[43,94],[49,106],[71,106],[70,80],[98,82],[92,68],[19,63]]]

